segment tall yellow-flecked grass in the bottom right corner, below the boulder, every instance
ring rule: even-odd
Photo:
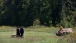
[[[57,43],[76,43],[76,32],[61,37]]]

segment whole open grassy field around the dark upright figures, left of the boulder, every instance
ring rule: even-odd
[[[16,34],[16,27],[0,27],[0,43],[57,43],[60,37],[55,33],[59,28],[33,26],[24,28],[24,38],[12,38]]]

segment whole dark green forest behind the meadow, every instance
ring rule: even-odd
[[[76,0],[0,0],[0,25],[76,26]]]

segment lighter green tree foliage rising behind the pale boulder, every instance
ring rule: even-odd
[[[74,18],[73,18],[73,13],[71,7],[71,1],[70,0],[66,0],[63,1],[63,6],[62,6],[62,12],[61,12],[61,25],[63,25],[64,27],[73,27],[74,25]]]

